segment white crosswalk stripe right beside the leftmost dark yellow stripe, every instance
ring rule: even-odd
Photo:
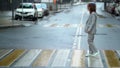
[[[14,67],[30,66],[40,52],[41,52],[40,49],[31,49],[21,59],[19,59],[13,66]]]

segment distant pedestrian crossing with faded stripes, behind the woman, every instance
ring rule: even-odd
[[[84,27],[83,24],[58,24],[58,23],[50,23],[44,24],[43,27],[51,27],[51,28],[76,28],[76,27]],[[118,24],[97,24],[98,28],[120,28]]]

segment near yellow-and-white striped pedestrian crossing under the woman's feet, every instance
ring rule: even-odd
[[[120,68],[120,50],[99,50],[85,57],[85,50],[0,49],[0,67]]]

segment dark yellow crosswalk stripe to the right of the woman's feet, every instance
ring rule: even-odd
[[[109,68],[111,67],[120,67],[119,58],[116,56],[115,52],[112,50],[105,50],[104,56]]]

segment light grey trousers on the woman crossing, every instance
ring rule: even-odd
[[[94,34],[88,34],[88,45],[90,54],[97,52],[97,48],[94,46]]]

